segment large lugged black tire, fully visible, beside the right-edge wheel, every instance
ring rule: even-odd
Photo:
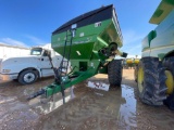
[[[138,92],[142,103],[163,105],[166,99],[165,68],[158,57],[144,57],[138,66]]]

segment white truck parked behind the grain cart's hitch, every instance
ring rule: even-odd
[[[53,67],[59,68],[60,54],[52,49],[33,48],[27,56],[3,58],[0,62],[0,80],[18,80],[22,84],[29,84],[38,78],[53,76],[48,53],[51,53]]]

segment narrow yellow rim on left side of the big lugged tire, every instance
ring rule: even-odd
[[[139,92],[141,93],[144,89],[144,69],[142,67],[139,67],[138,69],[138,89],[139,89]]]

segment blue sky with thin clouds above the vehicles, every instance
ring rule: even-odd
[[[67,21],[113,4],[124,52],[140,55],[141,40],[157,25],[149,20],[161,0],[0,0],[0,43],[35,47],[51,42],[51,32]]]

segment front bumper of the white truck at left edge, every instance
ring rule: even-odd
[[[18,74],[0,74],[0,80],[9,81],[13,79],[17,79]]]

